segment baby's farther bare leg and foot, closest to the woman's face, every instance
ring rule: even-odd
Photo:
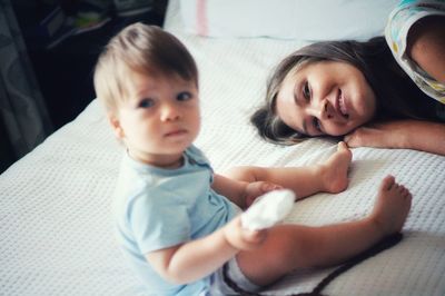
[[[289,188],[298,198],[316,193],[340,193],[348,186],[347,171],[353,155],[345,142],[325,164],[307,167],[236,167],[225,175],[243,181],[269,181]]]

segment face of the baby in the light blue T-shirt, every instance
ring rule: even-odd
[[[198,136],[199,97],[195,81],[178,76],[131,75],[129,98],[120,103],[111,125],[129,155],[156,166],[181,159]]]

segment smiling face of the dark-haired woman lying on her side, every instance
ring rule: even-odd
[[[369,121],[376,98],[363,73],[338,61],[290,70],[276,98],[276,112],[307,136],[343,136]]]

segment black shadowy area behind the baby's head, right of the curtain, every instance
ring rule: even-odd
[[[131,7],[131,1],[120,1],[130,4],[125,13],[119,13],[121,11],[117,10],[112,0],[40,0],[34,1],[33,7],[30,7],[30,0],[22,2],[26,4],[14,0],[14,10],[55,129],[72,120],[95,98],[92,67],[110,37],[136,21],[162,26],[165,14],[165,7],[157,1],[155,9],[155,1],[151,0],[135,1],[135,7]],[[39,36],[36,32],[41,29],[39,22],[58,8],[66,18],[82,13],[95,18],[92,14],[96,14],[98,28],[95,29],[95,20],[91,20],[91,29],[85,32],[70,33],[70,26],[63,28],[61,24],[61,32],[53,33],[52,38]]]

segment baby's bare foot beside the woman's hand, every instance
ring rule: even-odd
[[[353,152],[344,141],[337,146],[337,151],[320,167],[324,191],[337,194],[345,190],[349,184],[347,171],[353,159]]]

